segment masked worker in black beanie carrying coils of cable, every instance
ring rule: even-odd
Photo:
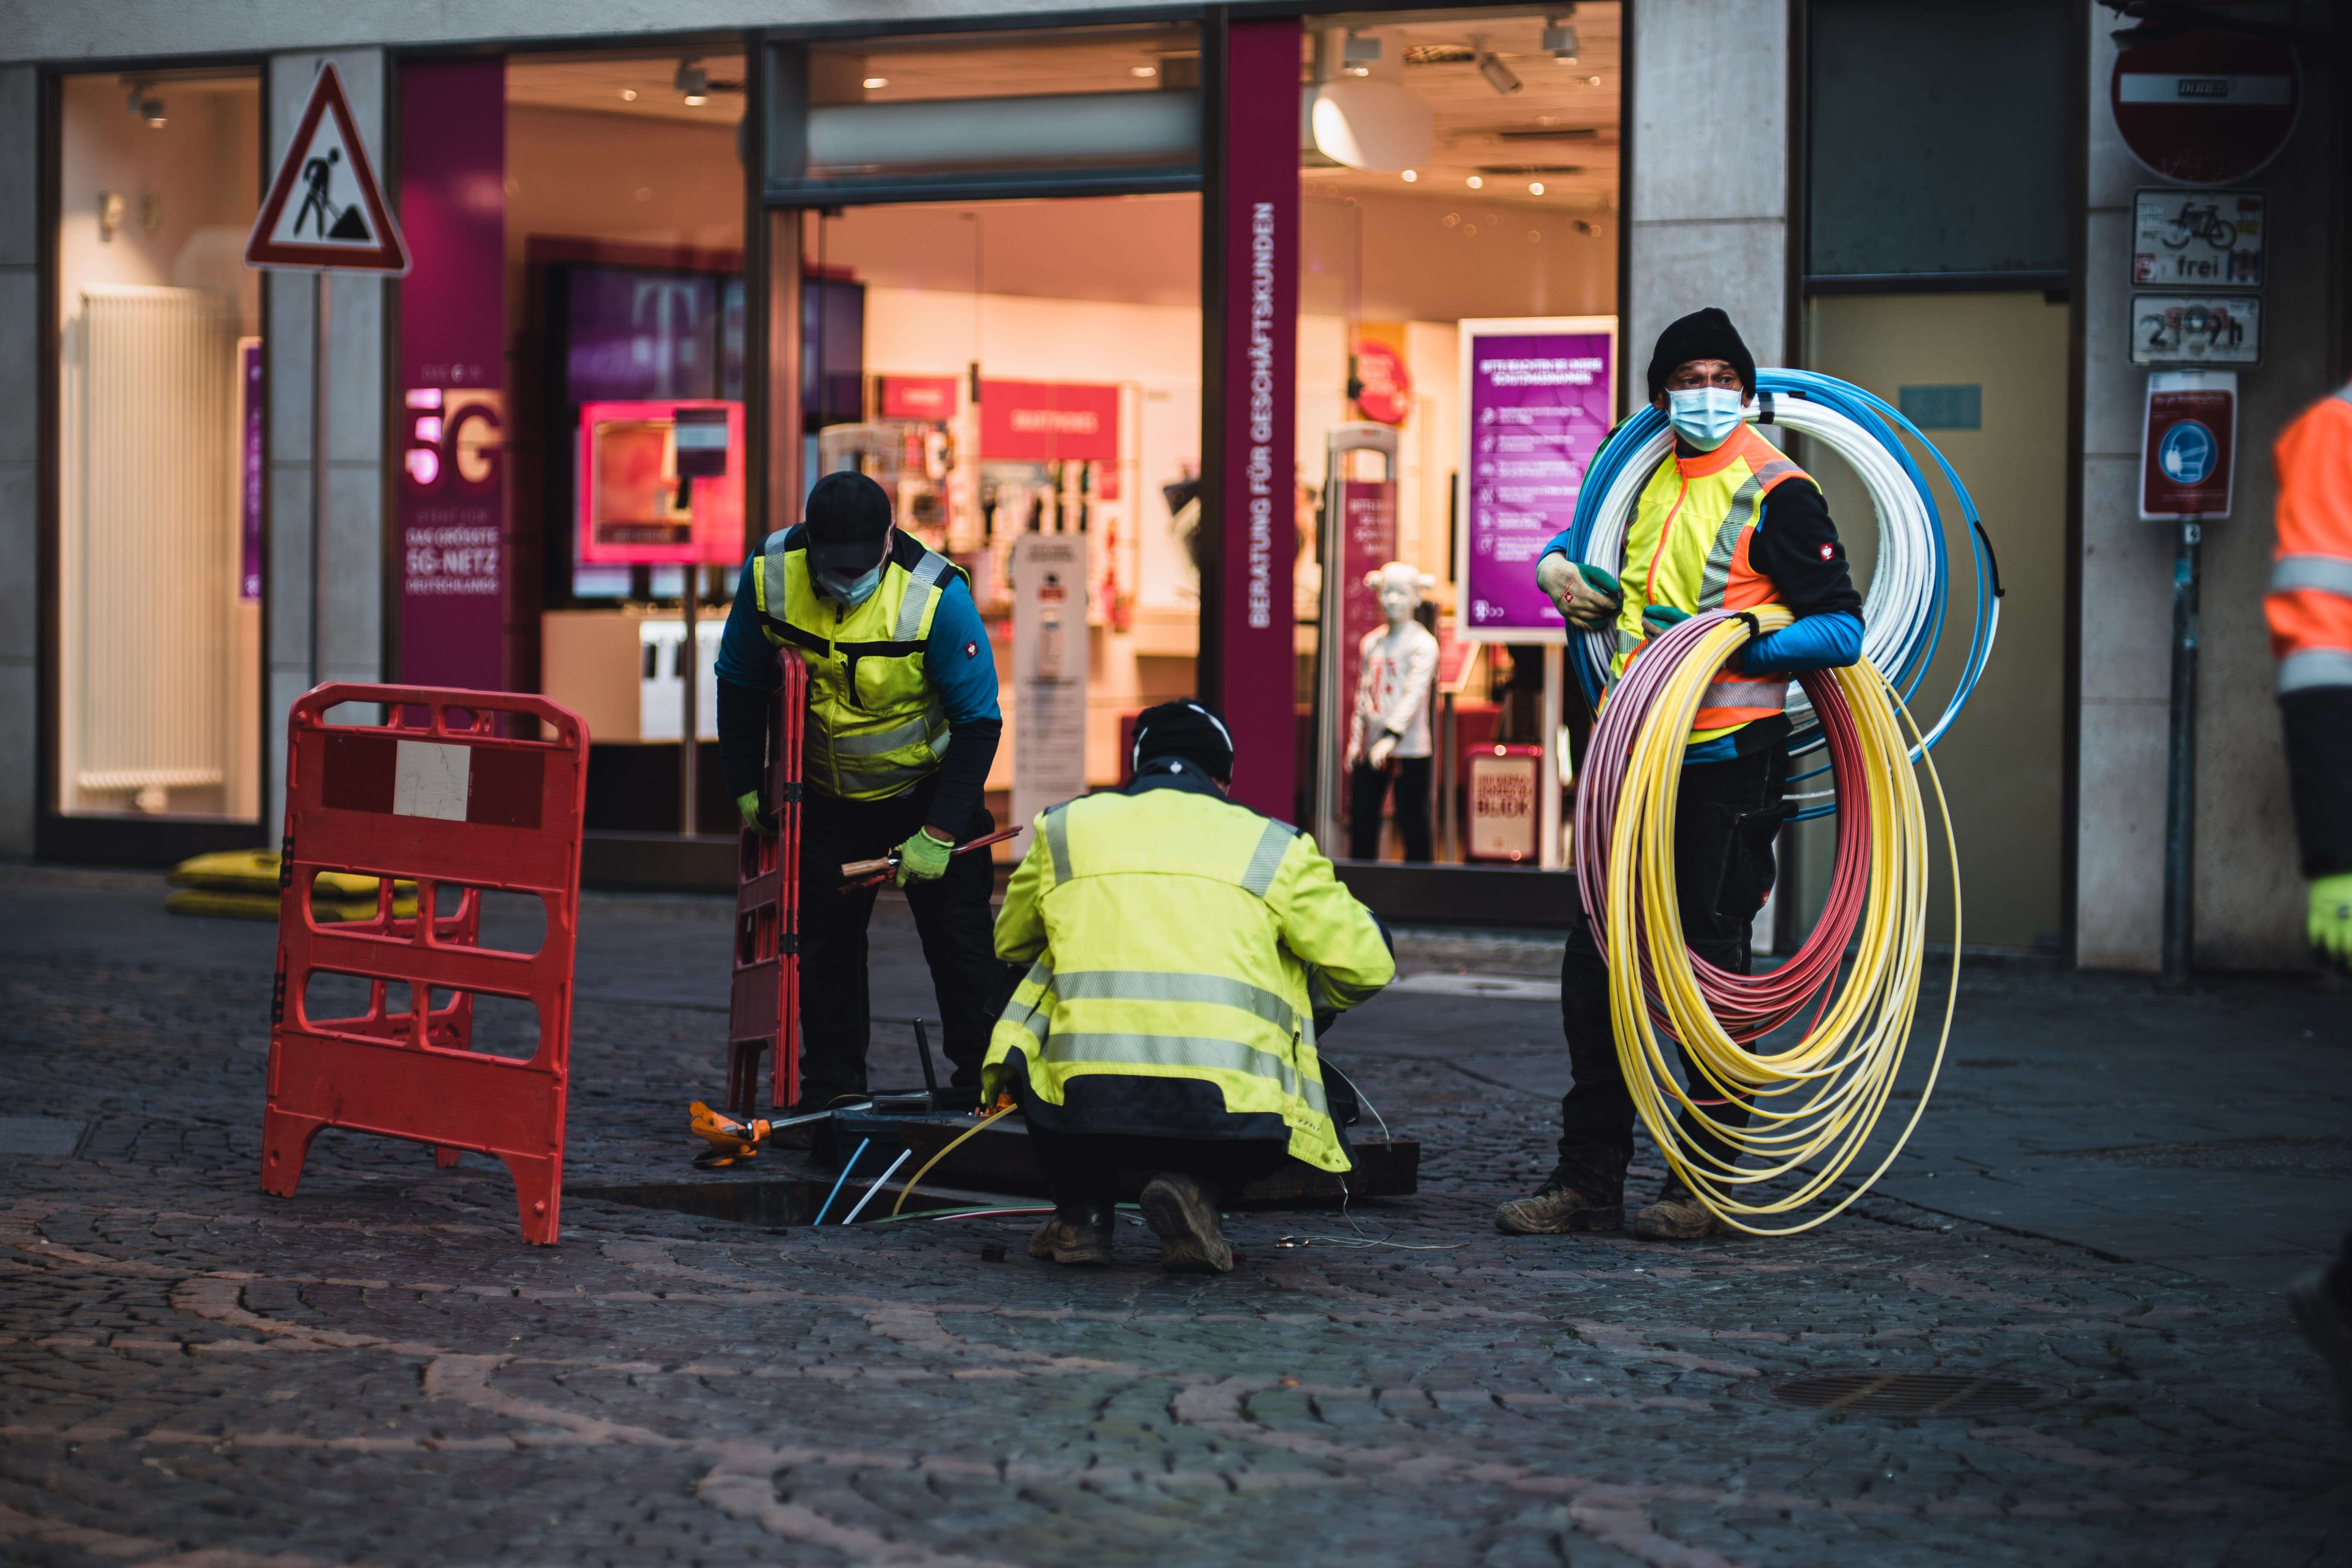
[[[1750,926],[1773,884],[1773,839],[1788,783],[1788,682],[1799,670],[1851,665],[1863,654],[1863,599],[1820,487],[1748,418],[1757,367],[1731,317],[1698,310],[1658,336],[1649,400],[1675,428],[1675,451],[1642,489],[1621,574],[1573,562],[1566,534],[1536,562],[1536,581],[1578,630],[1616,628],[1611,682],[1649,639],[1710,609],[1785,604],[1795,625],[1750,642],[1708,686],[1691,724],[1675,806],[1675,891],[1691,952],[1748,973]],[[1606,701],[1606,698],[1604,698]],[[1618,1229],[1693,1239],[1726,1229],[1672,1175],[1656,1204],[1625,1220],[1632,1095],[1609,1025],[1609,969],[1583,905],[1559,961],[1559,1020],[1576,1086],[1559,1103],[1559,1164],[1534,1197],[1496,1208],[1496,1229],[1562,1234]],[[1684,1072],[1696,1084],[1696,1074]],[[1708,1119],[1745,1126],[1743,1100],[1700,1100]],[[1722,1159],[1731,1145],[1684,1126]]]

